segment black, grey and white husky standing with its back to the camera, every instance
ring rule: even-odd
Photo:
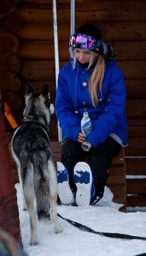
[[[49,145],[50,97],[48,85],[40,95],[27,85],[25,92],[24,119],[15,130],[11,141],[12,156],[17,164],[24,209],[30,216],[30,245],[38,244],[37,217],[34,201],[37,202],[38,219],[51,217],[54,232],[62,232],[58,224],[56,199],[58,184],[56,161]]]

